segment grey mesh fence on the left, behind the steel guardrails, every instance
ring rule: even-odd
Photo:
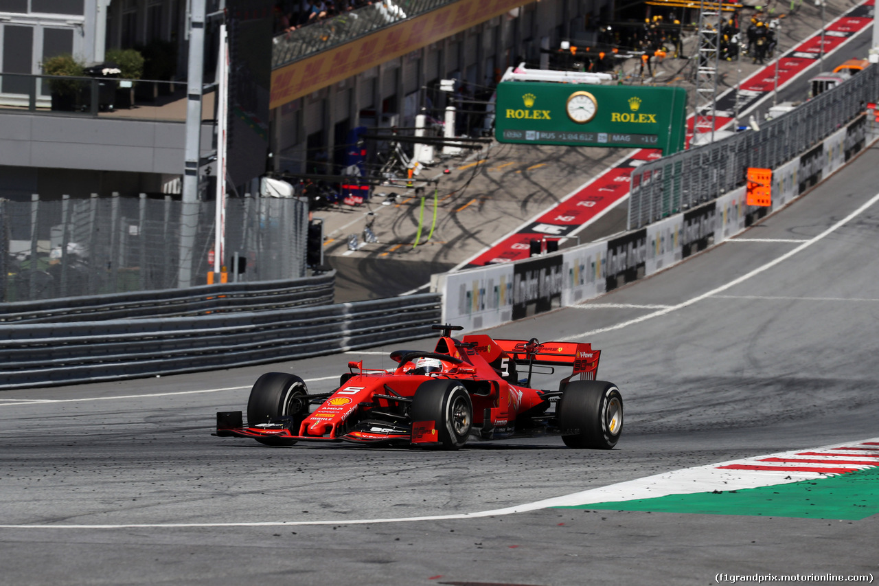
[[[214,201],[146,194],[0,200],[0,303],[204,285],[214,270],[214,210]],[[229,199],[225,226],[229,282],[305,275],[305,201]],[[242,273],[231,267],[236,253]]]

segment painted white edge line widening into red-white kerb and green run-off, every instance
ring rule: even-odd
[[[875,450],[876,449],[876,450]],[[839,466],[834,465],[835,458],[852,458],[852,454],[862,458],[865,452],[872,453],[875,450],[875,456],[879,457],[879,438],[865,440],[861,442],[846,442],[815,448],[813,450],[790,450],[766,456],[756,456],[752,458],[742,458],[719,464],[696,466],[694,468],[686,468],[672,472],[656,474],[647,478],[638,480],[628,480],[610,485],[608,487],[592,488],[583,492],[574,494],[565,494],[554,498],[545,499],[536,502],[527,502],[504,509],[490,509],[476,511],[470,513],[455,513],[450,515],[431,515],[431,516],[412,516],[412,517],[389,517],[389,518],[337,518],[321,521],[297,521],[294,519],[286,521],[251,521],[251,522],[216,522],[216,523],[140,523],[140,524],[0,524],[0,529],[69,529],[75,531],[83,530],[117,530],[117,529],[147,529],[147,528],[218,528],[218,527],[282,527],[294,525],[352,525],[352,524],[384,524],[384,523],[412,523],[418,521],[440,521],[454,519],[472,519],[486,516],[503,516],[512,515],[514,513],[523,513],[527,511],[563,508],[563,509],[619,509],[619,510],[664,510],[667,512],[686,512],[686,513],[716,513],[724,515],[757,515],[763,512],[754,512],[743,508],[741,502],[729,501],[724,503],[721,509],[711,509],[702,504],[701,509],[693,506],[693,501],[688,500],[689,497],[695,499],[710,498],[706,495],[716,494],[738,494],[738,491],[746,489],[766,489],[770,492],[767,494],[781,494],[774,497],[765,496],[764,493],[754,493],[759,499],[764,501],[772,501],[778,498],[779,502],[771,502],[768,511],[781,509],[781,512],[773,512],[775,516],[820,516],[820,518],[856,518],[860,519],[864,516],[871,516],[879,513],[879,458],[875,461],[868,460],[866,464],[846,465],[845,468],[849,472],[836,472]],[[827,462],[825,466],[819,466],[818,470],[797,470],[796,465],[784,466],[783,470],[770,470],[771,466],[766,468],[737,468],[736,465],[762,465],[754,464],[766,462],[767,458],[795,458],[803,455],[818,454]],[[777,466],[781,468],[782,466]],[[859,476],[860,475],[860,476]],[[829,509],[834,513],[832,516],[826,515],[828,507],[818,507],[816,509],[806,509],[804,514],[799,505],[803,502],[791,505],[785,502],[784,494],[785,485],[803,485],[804,487],[795,487],[793,490],[809,493],[813,491],[812,487],[819,486],[816,484],[822,480],[834,480],[843,478],[853,480],[852,483],[836,482],[831,490],[825,491],[826,498],[832,502]],[[854,487],[854,488],[853,488]],[[817,489],[815,489],[817,490]],[[752,494],[753,495],[753,494]],[[671,503],[668,500],[662,501],[663,498],[672,497]],[[801,499],[802,500],[802,499]],[[806,501],[809,501],[807,498]],[[844,502],[843,502],[844,501]],[[854,501],[854,502],[853,502]],[[700,501],[702,502],[702,501]],[[867,502],[867,504],[861,504]],[[834,504],[835,503],[835,504]],[[807,502],[806,506],[810,506]],[[813,503],[816,504],[816,503]],[[773,508],[776,507],[776,508]],[[787,511],[787,512],[785,512]]]

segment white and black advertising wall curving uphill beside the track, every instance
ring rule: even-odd
[[[809,150],[771,167],[771,206],[749,206],[746,187],[734,187],[720,197],[712,195],[707,201],[681,205],[683,211],[659,221],[651,216],[652,223],[607,241],[527,260],[433,275],[431,290],[443,295],[443,322],[469,331],[578,304],[719,244],[803,194],[875,141],[872,121],[866,114],[836,128],[824,140],[810,144]],[[655,165],[663,167],[667,158]],[[667,187],[669,175],[662,181],[650,179],[649,172],[642,171],[648,165],[654,164],[643,165],[637,172]],[[675,178],[683,180],[679,175]],[[657,201],[663,200],[660,197]]]

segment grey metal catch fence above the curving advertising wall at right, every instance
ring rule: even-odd
[[[879,97],[872,66],[795,110],[716,143],[662,157],[631,176],[628,229],[715,200],[745,185],[748,167],[777,168],[862,114]]]

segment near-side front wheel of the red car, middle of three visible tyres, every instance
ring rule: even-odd
[[[461,383],[429,380],[412,398],[411,421],[433,421],[440,450],[459,450],[473,426],[473,403]]]

